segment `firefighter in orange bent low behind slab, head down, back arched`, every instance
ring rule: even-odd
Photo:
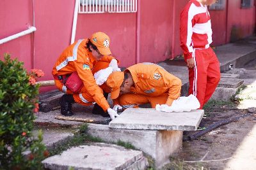
[[[152,108],[156,108],[156,104],[171,106],[180,96],[181,80],[157,64],[140,63],[124,72],[114,71],[109,75],[107,85],[111,87],[113,110],[116,111],[121,107],[137,108],[145,103],[150,103]]]

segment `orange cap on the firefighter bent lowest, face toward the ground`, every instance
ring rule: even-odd
[[[116,99],[120,93],[120,86],[124,81],[124,72],[114,71],[107,80],[107,85],[111,87],[111,99]]]

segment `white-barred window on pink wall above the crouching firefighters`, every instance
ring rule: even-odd
[[[80,0],[79,13],[134,13],[137,0]]]

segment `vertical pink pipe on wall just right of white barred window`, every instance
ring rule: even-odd
[[[140,21],[141,21],[141,15],[140,15],[140,6],[141,6],[141,0],[137,1],[138,10],[136,15],[136,64],[140,63]]]

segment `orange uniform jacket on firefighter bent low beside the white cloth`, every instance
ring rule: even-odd
[[[131,92],[135,94],[156,97],[168,92],[166,104],[169,106],[180,96],[181,80],[157,64],[140,63],[127,70],[132,74],[134,87]]]

